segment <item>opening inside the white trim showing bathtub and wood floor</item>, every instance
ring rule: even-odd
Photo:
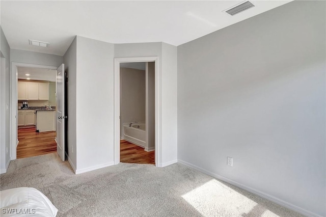
[[[155,164],[155,62],[120,64],[120,161]]]

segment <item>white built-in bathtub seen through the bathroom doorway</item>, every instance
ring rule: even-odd
[[[129,127],[129,124],[123,124],[123,139],[146,150],[146,125],[134,123]]]

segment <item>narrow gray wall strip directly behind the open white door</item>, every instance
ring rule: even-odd
[[[76,77],[77,77],[77,40],[72,41],[64,55],[65,71],[68,76],[68,153],[69,161],[74,171],[76,171]],[[66,149],[67,150],[67,149]]]

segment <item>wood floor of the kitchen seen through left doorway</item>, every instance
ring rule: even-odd
[[[57,152],[56,131],[36,132],[35,127],[18,129],[17,158]]]

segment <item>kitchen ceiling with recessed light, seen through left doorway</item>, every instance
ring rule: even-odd
[[[49,82],[56,82],[57,70],[40,69],[30,67],[18,67],[18,79],[31,80],[48,80]],[[29,76],[26,74],[30,74]]]

